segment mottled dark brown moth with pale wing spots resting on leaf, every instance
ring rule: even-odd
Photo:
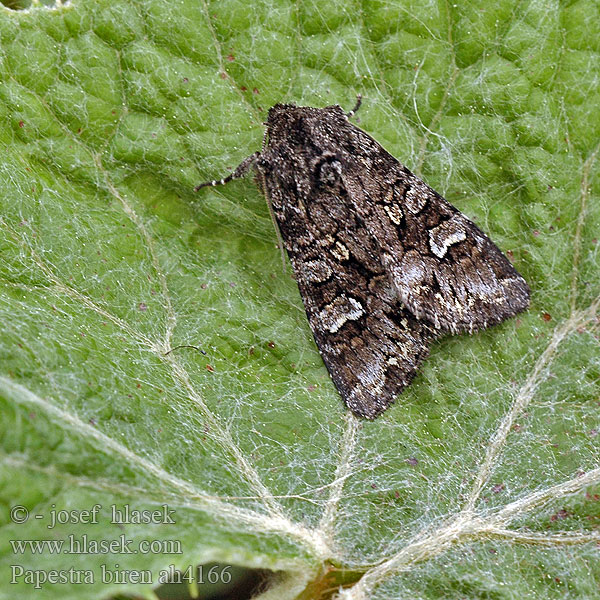
[[[276,104],[254,170],[315,341],[348,408],[374,419],[432,341],[525,310],[529,287],[465,215],[350,122],[358,110]]]

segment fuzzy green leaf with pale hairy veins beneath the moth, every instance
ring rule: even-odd
[[[153,597],[102,565],[279,572],[263,598],[584,598],[600,579],[597,2],[0,10],[0,598]],[[353,417],[251,178],[277,102],[346,109],[513,260],[531,309]],[[200,350],[180,348],[191,344]],[[97,524],[49,529],[100,504]],[[109,507],[175,509],[116,525]],[[30,512],[11,520],[10,507]],[[77,513],[76,513],[77,514]],[[42,519],[36,519],[41,515]],[[9,540],[179,540],[16,554]],[[341,588],[340,588],[341,586]]]

